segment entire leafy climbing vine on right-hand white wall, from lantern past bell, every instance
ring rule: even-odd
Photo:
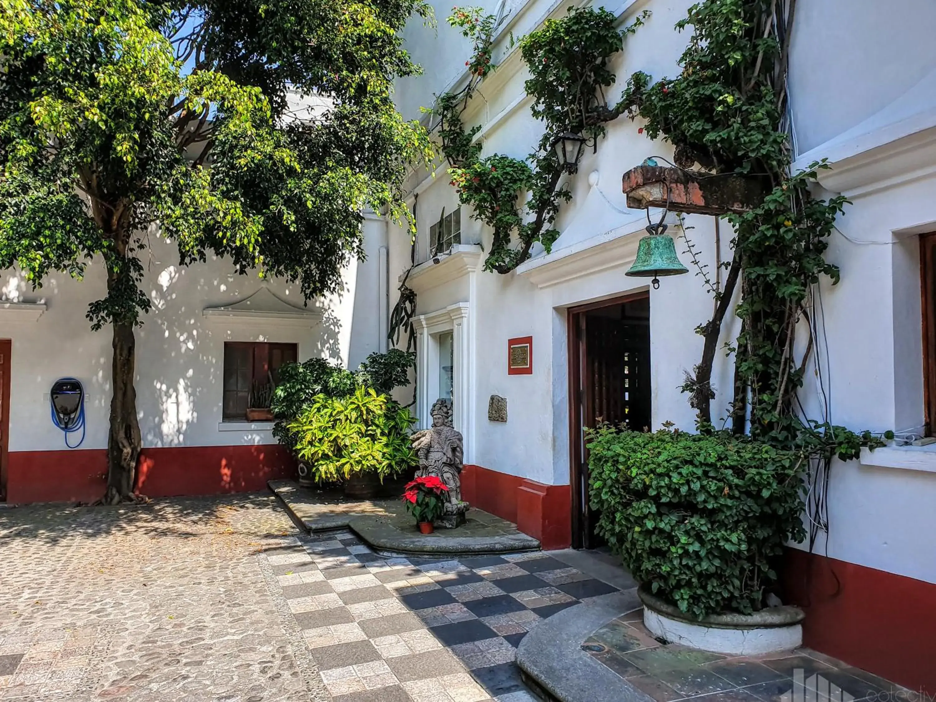
[[[623,40],[649,12],[623,30],[604,9],[570,7],[562,19],[519,41],[530,71],[524,88],[546,131],[526,158],[482,156],[479,125],[466,128],[462,114],[492,63],[494,17],[476,7],[455,7],[448,22],[473,42],[469,80],[460,91],[439,95],[431,112],[442,142],[451,184],[472,216],[493,230],[485,268],[506,273],[530,256],[534,243],[548,251],[558,237],[553,222],[571,193],[565,168],[552,146],[573,132],[592,144],[606,124],[626,114],[643,120],[640,131],[674,147],[677,168],[699,177],[735,174],[752,179],[763,197],[742,213],[726,213],[733,227],[732,257],[720,285],[709,285],[712,317],[696,328],[705,339],[702,358],[683,390],[697,411],[699,428],[713,431],[711,373],[724,319],[740,318],[737,339],[725,344],[735,357],[730,417],[736,433],[776,446],[796,447],[826,459],[856,458],[861,446],[880,441],[804,417],[797,391],[815,349],[812,304],[817,284],[839,280],[826,261],[828,237],[848,204],[844,197],[812,197],[819,168],[790,171],[786,66],[796,0],[702,0],[677,23],[692,35],[675,78],[653,81],[644,72],[628,80],[610,104],[616,77],[608,67]],[[524,197],[525,196],[525,197]],[[694,260],[697,256],[694,255]],[[703,273],[704,274],[704,273]],[[739,300],[735,304],[735,300]],[[806,322],[806,324],[801,324]],[[797,334],[808,329],[805,340]],[[805,346],[805,348],[802,348]],[[827,418],[827,417],[826,417]]]

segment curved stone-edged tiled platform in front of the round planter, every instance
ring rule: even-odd
[[[524,637],[517,663],[524,680],[551,702],[776,702],[796,698],[797,675],[808,688],[812,676],[821,676],[855,702],[914,695],[807,648],[725,656],[654,639],[643,625],[636,589],[550,617]],[[815,696],[816,688],[809,689]]]

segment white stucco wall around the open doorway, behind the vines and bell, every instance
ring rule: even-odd
[[[515,34],[529,31],[550,9],[562,12],[560,5],[535,0],[521,4],[511,20]],[[681,0],[622,4],[628,8],[625,18],[643,7],[651,8],[653,15],[636,36],[627,39],[614,63],[619,90],[626,76],[637,69],[654,78],[676,70],[686,35],[676,32],[673,24],[689,5]],[[448,7],[437,10],[441,22]],[[841,267],[841,283],[821,286],[819,312],[824,331],[817,355],[830,414],[824,414],[814,366],[802,398],[811,417],[828,418],[856,431],[919,431],[923,424],[917,235],[936,230],[936,181],[931,175],[936,157],[923,148],[936,143],[936,135],[924,131],[929,124],[926,115],[936,114],[930,103],[936,103],[933,91],[920,91],[918,104],[908,104],[907,96],[914,95],[914,86],[928,80],[936,68],[936,53],[925,37],[936,19],[934,11],[925,0],[797,5],[790,91],[798,153],[810,152],[806,154],[810,160],[828,155],[837,162],[834,177],[826,182],[824,176],[823,182],[832,192],[845,192],[854,201],[841,218],[840,228],[844,235],[864,242],[833,234],[827,257]],[[414,31],[407,34],[407,40],[414,55],[432,57],[418,91],[410,92],[409,83],[398,87],[402,104],[415,105],[451,82],[463,69],[467,50],[458,55],[452,45],[442,47],[443,40],[430,32]],[[485,154],[523,156],[534,148],[542,129],[522,98],[523,67],[510,58],[505,60],[505,51],[499,41],[495,60],[502,65],[485,81],[464,117],[466,124],[482,125]],[[612,89],[609,94],[614,99],[616,92]],[[895,122],[900,129],[888,132],[887,124]],[[869,136],[875,125],[883,128]],[[474,286],[463,275],[417,290],[419,314],[456,302],[466,302],[471,310],[475,412],[466,436],[470,444],[466,455],[470,454],[472,462],[548,484],[569,481],[565,310],[647,285],[623,275],[629,266],[624,253],[627,241],[633,241],[631,248],[636,248],[643,234],[640,219],[644,213],[626,212],[620,179],[646,156],[665,156],[669,151],[667,145],[638,135],[637,126],[626,119],[610,124],[597,154],[585,155],[571,183],[575,197],[563,206],[557,222],[562,236],[551,256],[534,258],[506,276],[476,272]],[[857,130],[857,137],[851,137],[849,130]],[[936,132],[936,126],[932,131]],[[912,147],[904,146],[902,151],[894,147],[894,154],[888,153],[885,160],[876,151],[867,163],[856,163],[855,154],[870,145],[876,148],[910,134],[915,135],[907,137],[914,139]],[[593,171],[597,171],[596,185],[589,183]],[[847,183],[849,179],[862,183]],[[441,208],[450,211],[454,193],[444,168],[434,180],[420,181],[415,177],[412,184],[419,194],[420,237],[425,238]],[[463,230],[477,227],[467,215],[462,212]],[[689,235],[705,262],[713,266],[714,221],[691,217],[687,224],[695,227]],[[477,233],[485,250],[490,250],[490,232]],[[723,226],[723,259],[730,256],[730,237],[730,230]],[[420,245],[425,251],[424,240]],[[391,256],[398,266],[391,268],[391,278],[396,280],[408,266],[408,253],[399,240],[393,246],[399,246]],[[590,250],[598,255],[588,258]],[[684,250],[678,241],[677,251],[689,265]],[[606,251],[610,252],[607,256],[602,253]],[[534,250],[534,256],[543,252]],[[678,388],[683,372],[698,362],[702,339],[694,329],[709,318],[711,307],[701,280],[692,274],[665,279],[659,290],[651,290],[656,427],[665,420],[687,430],[694,426],[694,411]],[[737,331],[738,321],[731,317],[722,341],[734,338]],[[534,374],[508,375],[507,339],[526,335],[534,337]],[[719,392],[712,405],[714,418],[726,413],[731,373],[730,362],[720,351],[713,374]],[[487,418],[488,399],[495,393],[507,398],[506,424]],[[936,452],[931,457],[936,468]],[[883,462],[870,458],[864,463],[833,464],[830,535],[827,551],[821,542],[817,552],[936,583],[936,560],[929,557],[932,534],[936,534],[936,513],[931,509],[936,500],[936,473],[874,466],[873,461]]]

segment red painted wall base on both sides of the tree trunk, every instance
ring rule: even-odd
[[[7,502],[94,502],[104,494],[107,470],[103,448],[11,452]],[[293,475],[295,462],[278,444],[144,448],[137,491],[147,497],[250,492]]]

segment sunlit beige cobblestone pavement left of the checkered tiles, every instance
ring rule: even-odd
[[[0,699],[327,700],[258,557],[297,534],[269,495],[0,509]]]

